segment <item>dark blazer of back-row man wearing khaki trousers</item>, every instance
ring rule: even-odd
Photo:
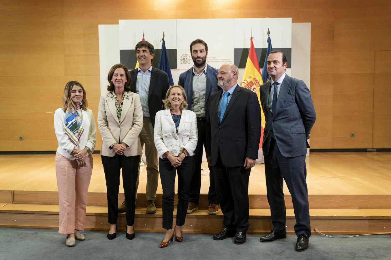
[[[129,71],[131,77],[130,90],[137,93],[137,71],[138,68]],[[160,69],[152,67],[151,69],[151,82],[149,83],[148,92],[148,109],[149,117],[151,118],[152,126],[155,127],[156,112],[164,109],[163,99],[166,97],[167,90],[169,89],[169,77],[167,73]]]

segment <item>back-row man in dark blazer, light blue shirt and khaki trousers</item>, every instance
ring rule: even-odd
[[[130,71],[131,88],[134,93],[139,94],[141,107],[143,110],[143,128],[139,135],[141,146],[145,144],[145,158],[147,160],[147,214],[156,213],[155,199],[158,188],[158,151],[156,151],[154,142],[154,125],[156,112],[162,110],[163,99],[170,87],[167,73],[152,66],[155,48],[147,41],[140,41],[135,47],[138,68]],[[138,176],[140,176],[140,166],[138,167]],[[139,177],[136,182],[136,192],[138,188]],[[118,212],[125,210],[125,201]]]

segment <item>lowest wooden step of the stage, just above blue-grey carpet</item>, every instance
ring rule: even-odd
[[[58,205],[0,203],[0,226],[24,228],[58,228]],[[174,223],[176,209],[174,209]],[[389,209],[311,209],[311,227],[331,234],[363,234],[391,232]],[[269,209],[250,209],[249,233],[268,233],[271,230]],[[162,210],[145,214],[145,208],[136,208],[136,232],[163,232]],[[287,232],[294,233],[294,212],[287,209]],[[118,215],[119,229],[126,228],[125,214]],[[108,230],[107,207],[88,206],[86,229]],[[183,231],[187,233],[217,233],[222,228],[222,213],[208,215],[197,210],[186,217]],[[314,231],[315,233],[315,231]]]

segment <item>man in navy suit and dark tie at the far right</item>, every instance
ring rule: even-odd
[[[285,238],[286,210],[283,180],[292,196],[298,236],[296,251],[308,249],[311,235],[307,191],[307,153],[310,130],[316,114],[311,93],[303,80],[285,74],[285,54],[274,51],[267,57],[267,73],[271,80],[260,87],[260,99],[265,113],[262,149],[265,157],[267,200],[269,201],[272,231],[261,242]]]

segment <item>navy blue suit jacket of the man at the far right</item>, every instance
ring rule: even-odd
[[[316,120],[311,93],[303,80],[285,75],[278,94],[276,111],[267,106],[271,80],[260,87],[260,99],[265,113],[265,130],[262,149],[269,153],[274,132],[278,149],[285,157],[296,157],[307,153],[310,131]],[[308,146],[309,148],[309,146]]]

